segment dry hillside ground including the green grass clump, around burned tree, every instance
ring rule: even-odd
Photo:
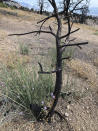
[[[30,110],[30,104],[37,104],[45,109],[46,106],[51,107],[53,104],[55,75],[39,75],[37,65],[38,62],[41,62],[44,71],[55,69],[54,39],[48,34],[36,38],[33,35],[8,37],[9,32],[23,33],[31,27],[32,30],[37,30],[38,26],[35,26],[35,23],[46,16],[18,9],[0,8],[0,10],[0,130],[68,130],[65,121],[59,122],[57,115],[54,115],[51,124],[48,124],[46,120],[45,123],[32,122],[34,117]],[[14,14],[17,14],[17,17]],[[53,18],[45,24],[45,27],[43,26],[43,29],[48,30],[46,28],[48,25],[54,29],[52,23],[55,23],[56,26]],[[62,28],[63,30],[67,29],[66,24],[62,25]],[[81,30],[76,35],[73,34],[72,39],[77,37],[77,42],[88,40],[90,44],[88,44],[88,48],[83,47],[75,54],[79,55],[76,59],[73,58],[76,50],[72,47],[65,48],[62,57],[71,59],[65,59],[63,62],[63,88],[56,110],[66,116],[74,130],[97,131],[98,37],[94,35],[94,32],[97,32],[98,29],[97,25],[92,29],[84,24],[74,24],[72,31],[75,28],[81,28]],[[46,38],[46,41],[43,38]],[[27,44],[29,45],[26,47],[27,50],[29,49],[26,51],[28,53],[21,53],[25,52],[24,47],[21,51],[18,45],[26,43],[26,39],[28,39]],[[25,45],[23,44],[23,46]],[[43,53],[38,53],[40,49]],[[91,54],[93,49],[95,54]],[[81,52],[84,53],[82,60]],[[89,57],[91,57],[90,60]],[[49,68],[49,66],[52,67]],[[28,119],[28,114],[30,119]]]

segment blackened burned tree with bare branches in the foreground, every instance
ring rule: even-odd
[[[79,28],[72,30],[73,27],[73,13],[76,10],[81,10],[81,3],[85,2],[86,0],[63,0],[62,2],[62,6],[63,8],[61,10],[58,9],[56,0],[47,0],[50,5],[53,8],[53,13],[46,17],[45,19],[41,20],[38,22],[38,24],[41,23],[40,25],[40,29],[38,31],[31,31],[31,32],[27,32],[27,33],[21,33],[21,34],[11,34],[11,35],[27,35],[27,34],[32,34],[32,33],[37,33],[37,34],[41,34],[41,33],[47,33],[47,34],[51,34],[55,40],[56,40],[56,69],[53,71],[44,71],[43,66],[41,65],[41,63],[39,64],[40,67],[40,71],[38,73],[41,74],[52,74],[52,73],[56,73],[56,81],[55,81],[55,89],[53,92],[53,95],[55,96],[55,99],[53,101],[53,104],[51,107],[48,108],[48,114],[46,116],[44,116],[45,118],[47,118],[49,121],[51,120],[51,117],[53,116],[54,113],[57,113],[55,111],[55,107],[58,103],[58,99],[60,96],[60,92],[62,89],[62,61],[65,59],[69,59],[68,57],[63,58],[63,53],[65,51],[65,48],[70,47],[70,46],[77,46],[81,49],[81,45],[86,45],[88,44],[88,42],[81,42],[81,43],[75,43],[74,40],[75,39],[71,39],[70,36],[71,34],[77,32],[79,30]],[[62,35],[62,17],[65,20],[65,23],[67,25],[67,33]],[[56,19],[56,24],[57,24],[57,30],[56,33],[55,31],[52,29],[51,26],[48,27],[48,30],[43,30],[43,26],[45,24],[45,22],[47,22],[49,19],[51,18],[55,18]],[[10,35],[10,36],[11,36]],[[63,40],[63,42],[62,42]],[[70,42],[73,42],[70,43]],[[60,113],[57,113],[60,116]],[[60,118],[64,118],[62,117],[62,115],[60,116]]]

